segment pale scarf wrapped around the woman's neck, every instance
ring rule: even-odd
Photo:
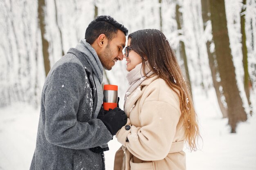
[[[146,65],[145,65],[145,73],[148,77],[154,73],[148,67],[148,62],[146,62]],[[139,85],[143,82],[144,79],[146,79],[146,76],[144,75],[143,70],[142,70],[142,63],[135,66],[135,68],[133,68],[126,75],[126,78],[129,82],[130,86],[128,87],[128,89],[126,91],[126,94],[125,94],[125,97],[124,97],[124,108],[125,108],[125,105],[126,105],[126,100],[129,98],[129,95],[133,91],[135,91],[135,89],[137,89],[139,87]]]

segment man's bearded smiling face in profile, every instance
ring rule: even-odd
[[[111,70],[117,60],[123,60],[123,52],[126,42],[125,35],[122,31],[118,30],[116,36],[108,41],[108,45],[105,47],[99,60],[106,70]]]

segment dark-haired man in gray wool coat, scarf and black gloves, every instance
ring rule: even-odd
[[[103,151],[127,117],[120,108],[103,113],[103,68],[123,60],[127,33],[110,16],[99,16],[54,64],[43,86],[30,170],[105,169]]]

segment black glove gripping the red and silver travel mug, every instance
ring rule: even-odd
[[[127,122],[127,116],[124,113],[124,110],[121,110],[121,108],[118,107],[108,111],[108,113],[106,113],[99,119],[101,119],[103,124],[105,124],[105,126],[108,128],[108,130],[113,136]]]

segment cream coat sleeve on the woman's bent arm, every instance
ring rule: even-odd
[[[144,103],[140,103],[141,113],[138,114],[141,127],[131,123],[129,131],[123,127],[117,134],[117,140],[132,155],[144,161],[161,160],[168,155],[180,119],[179,103],[177,97],[174,97],[174,92],[161,96],[157,88],[152,94],[146,97]],[[126,137],[128,142],[125,140]]]

